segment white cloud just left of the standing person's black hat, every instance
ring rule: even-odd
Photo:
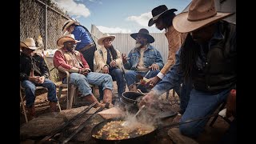
[[[147,26],[150,18],[152,18],[152,14],[148,12],[139,16],[130,16],[126,18],[126,21],[137,22],[140,26]]]

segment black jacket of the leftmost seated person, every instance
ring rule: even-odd
[[[34,76],[45,76],[45,78],[49,78],[49,69],[40,55],[34,54],[33,57],[30,57],[21,53],[19,63],[20,81],[28,80],[32,67],[34,67]]]

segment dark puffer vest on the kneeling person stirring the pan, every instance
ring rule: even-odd
[[[218,94],[236,83],[237,52],[230,49],[230,38],[236,32],[235,25],[224,21],[219,24],[224,38],[210,46],[206,54],[205,66],[202,69],[199,69],[198,66],[193,66],[191,77],[195,90]],[[186,41],[194,42],[191,36],[187,37]],[[186,46],[194,49],[196,47],[191,46],[198,45],[193,43]]]

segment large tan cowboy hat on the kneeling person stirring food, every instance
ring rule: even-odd
[[[181,33],[198,30],[234,13],[217,12],[214,0],[193,0],[188,12],[178,14],[174,20],[174,29]]]

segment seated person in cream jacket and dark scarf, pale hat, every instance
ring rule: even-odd
[[[112,45],[115,35],[103,34],[102,38],[98,39],[98,50],[95,51],[95,62],[97,65],[96,72],[110,74],[112,79],[117,81],[118,98],[126,90],[126,80],[122,70],[122,57],[118,49]],[[99,86],[100,99],[102,99],[102,88]]]

